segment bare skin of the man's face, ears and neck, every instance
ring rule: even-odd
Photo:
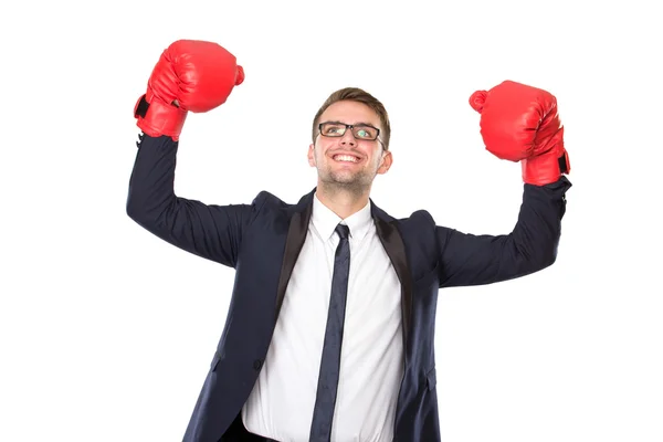
[[[351,101],[334,103],[323,113],[320,122],[364,123],[382,131],[378,115],[365,104]],[[338,154],[352,155],[359,160],[340,161],[334,158]],[[318,173],[316,194],[341,219],[368,203],[376,176],[386,173],[391,162],[391,151],[383,150],[378,140],[356,139],[351,130],[339,138],[318,134],[308,146],[308,164]]]

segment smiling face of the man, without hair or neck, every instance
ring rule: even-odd
[[[370,107],[351,101],[334,103],[319,122],[364,124],[382,130],[380,118]],[[308,164],[317,168],[320,183],[361,190],[370,187],[377,173],[389,170],[391,152],[385,151],[379,140],[355,138],[347,129],[341,137],[318,134],[308,148]]]

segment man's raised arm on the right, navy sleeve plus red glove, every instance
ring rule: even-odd
[[[570,171],[557,101],[548,92],[506,81],[470,98],[482,114],[481,135],[496,157],[522,164],[523,204],[514,230],[473,235],[436,227],[440,286],[467,286],[538,272],[557,259]]]

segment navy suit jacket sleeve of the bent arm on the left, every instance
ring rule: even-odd
[[[158,238],[234,267],[252,204],[210,206],[175,194],[178,141],[141,135],[129,179],[127,214]]]

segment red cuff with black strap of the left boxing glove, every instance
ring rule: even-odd
[[[167,135],[177,141],[185,126],[187,112],[154,97],[150,103],[143,95],[134,107],[134,116],[138,119],[140,130],[150,137]]]

